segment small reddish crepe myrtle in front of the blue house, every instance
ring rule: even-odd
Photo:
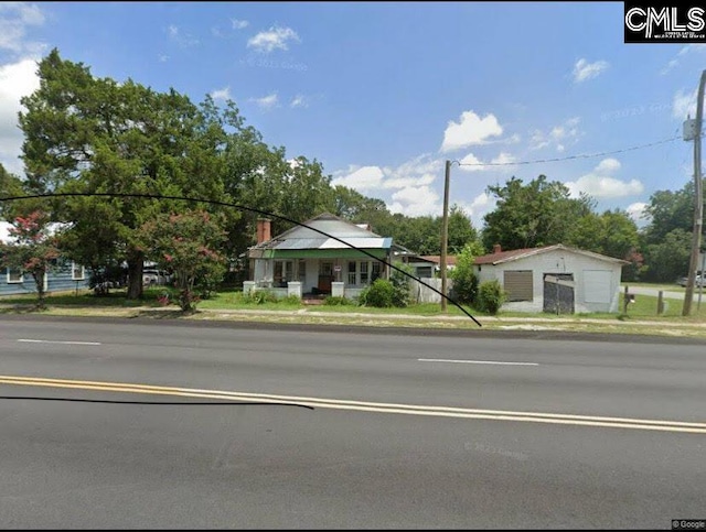
[[[60,256],[56,236],[49,231],[49,219],[41,210],[18,216],[8,229],[12,241],[0,243],[0,262],[23,275],[32,275],[40,310],[45,307],[44,278]]]

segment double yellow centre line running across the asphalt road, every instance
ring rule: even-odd
[[[576,414],[556,414],[542,412],[521,412],[502,410],[461,409],[453,406],[425,406],[413,404],[376,403],[366,401],[349,401],[338,399],[307,398],[296,395],[275,395],[265,393],[232,392],[225,390],[205,390],[193,388],[162,387],[152,384],[135,384],[127,382],[82,381],[71,379],[50,379],[38,377],[0,376],[0,384],[32,386],[92,391],[143,393],[173,395],[200,399],[220,399],[238,401],[257,401],[266,403],[304,404],[308,406],[350,410],[361,412],[379,412],[408,415],[426,415],[441,417],[460,417],[495,421],[521,421],[532,423],[550,423],[579,426],[603,426],[621,428],[639,428],[664,432],[685,432],[706,434],[706,423],[693,423],[664,420],[641,420],[630,417],[606,417]]]

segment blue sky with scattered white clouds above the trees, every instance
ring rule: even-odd
[[[622,2],[1,2],[0,163],[23,174],[20,98],[56,47],[95,76],[232,99],[267,143],[393,213],[441,216],[449,160],[449,202],[475,227],[494,206],[489,186],[541,174],[644,225],[655,191],[693,178],[682,129],[706,45],[624,44],[623,13]]]

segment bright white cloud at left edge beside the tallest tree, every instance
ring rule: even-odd
[[[14,174],[22,173],[18,159],[22,149],[22,132],[18,128],[20,98],[40,86],[34,59],[23,59],[0,66],[0,162]]]

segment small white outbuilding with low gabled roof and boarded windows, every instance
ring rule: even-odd
[[[618,312],[621,270],[628,261],[561,243],[478,257],[479,283],[498,280],[503,310],[557,314]]]

